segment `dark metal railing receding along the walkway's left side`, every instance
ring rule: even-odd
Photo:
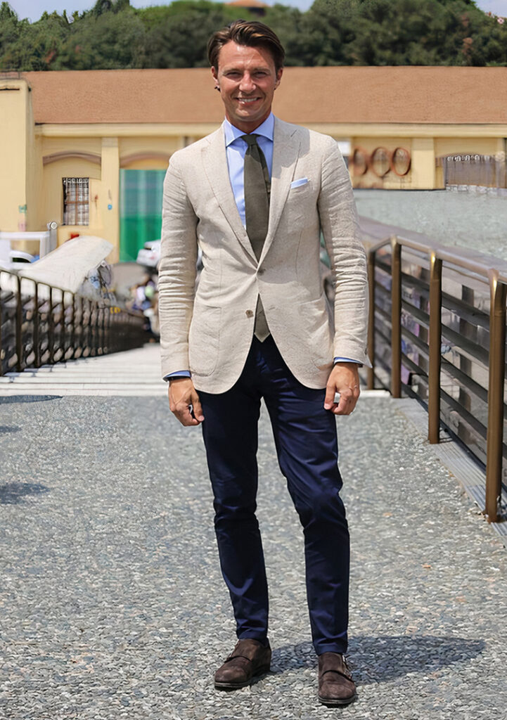
[[[136,348],[146,340],[141,312],[0,271],[0,375]]]

